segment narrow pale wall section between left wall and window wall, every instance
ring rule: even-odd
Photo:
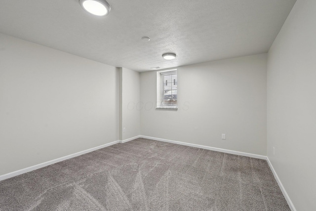
[[[125,140],[140,135],[140,73],[122,68],[121,80],[121,139]]]

